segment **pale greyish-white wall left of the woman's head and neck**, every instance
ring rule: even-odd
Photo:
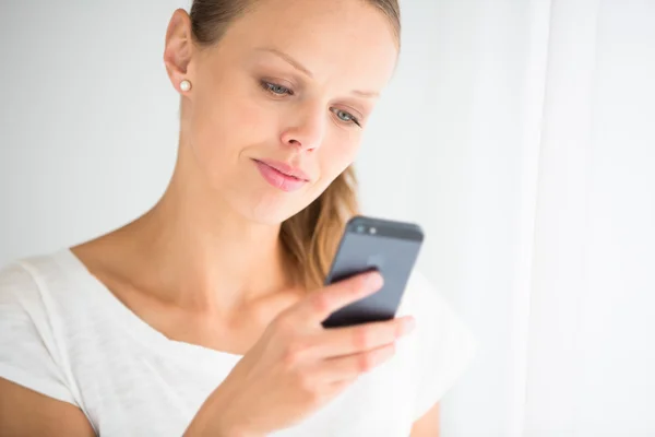
[[[95,236],[163,192],[178,96],[162,48],[179,3],[0,2],[0,261]]]

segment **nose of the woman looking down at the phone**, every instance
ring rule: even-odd
[[[298,117],[293,117],[295,122],[282,132],[282,142],[302,151],[311,152],[321,146],[325,138],[326,115],[324,110],[299,110]]]

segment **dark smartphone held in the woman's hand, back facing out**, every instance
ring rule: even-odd
[[[384,285],[379,292],[334,311],[323,321],[323,327],[347,327],[393,319],[422,241],[422,229],[414,223],[362,215],[350,218],[325,285],[371,270],[382,274]]]

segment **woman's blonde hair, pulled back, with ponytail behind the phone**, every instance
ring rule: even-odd
[[[377,7],[386,15],[400,48],[398,1],[361,1]],[[217,44],[230,23],[257,3],[257,0],[193,0],[190,15],[195,43],[201,46]],[[322,285],[346,222],[358,212],[357,179],[350,166],[317,200],[282,224],[279,238],[307,288]]]

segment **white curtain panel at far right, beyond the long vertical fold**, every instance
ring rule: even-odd
[[[515,434],[654,436],[655,2],[549,12]]]

